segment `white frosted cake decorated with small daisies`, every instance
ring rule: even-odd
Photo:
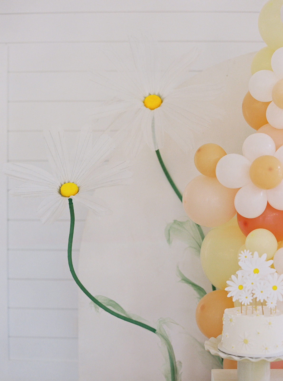
[[[223,333],[218,348],[232,355],[273,357],[283,353],[283,312],[270,314],[270,308],[261,306],[226,308],[223,315]]]

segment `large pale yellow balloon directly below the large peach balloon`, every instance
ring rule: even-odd
[[[211,229],[204,237],[200,261],[205,275],[216,288],[224,290],[226,281],[239,270],[238,251],[245,240],[236,218]]]

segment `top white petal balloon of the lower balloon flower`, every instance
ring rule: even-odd
[[[258,132],[249,135],[243,142],[243,155],[253,162],[259,156],[274,155],[276,151],[273,139],[264,133]]]

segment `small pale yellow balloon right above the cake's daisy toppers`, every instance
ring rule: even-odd
[[[273,258],[277,251],[277,240],[275,235],[267,229],[255,229],[246,237],[246,249],[252,253],[258,252],[261,257],[263,254],[267,254],[266,259]]]

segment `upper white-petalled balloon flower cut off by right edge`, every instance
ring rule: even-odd
[[[283,47],[275,50],[271,58],[272,70],[259,70],[249,82],[253,98],[270,102],[266,110],[267,122],[274,128],[283,128]]]

